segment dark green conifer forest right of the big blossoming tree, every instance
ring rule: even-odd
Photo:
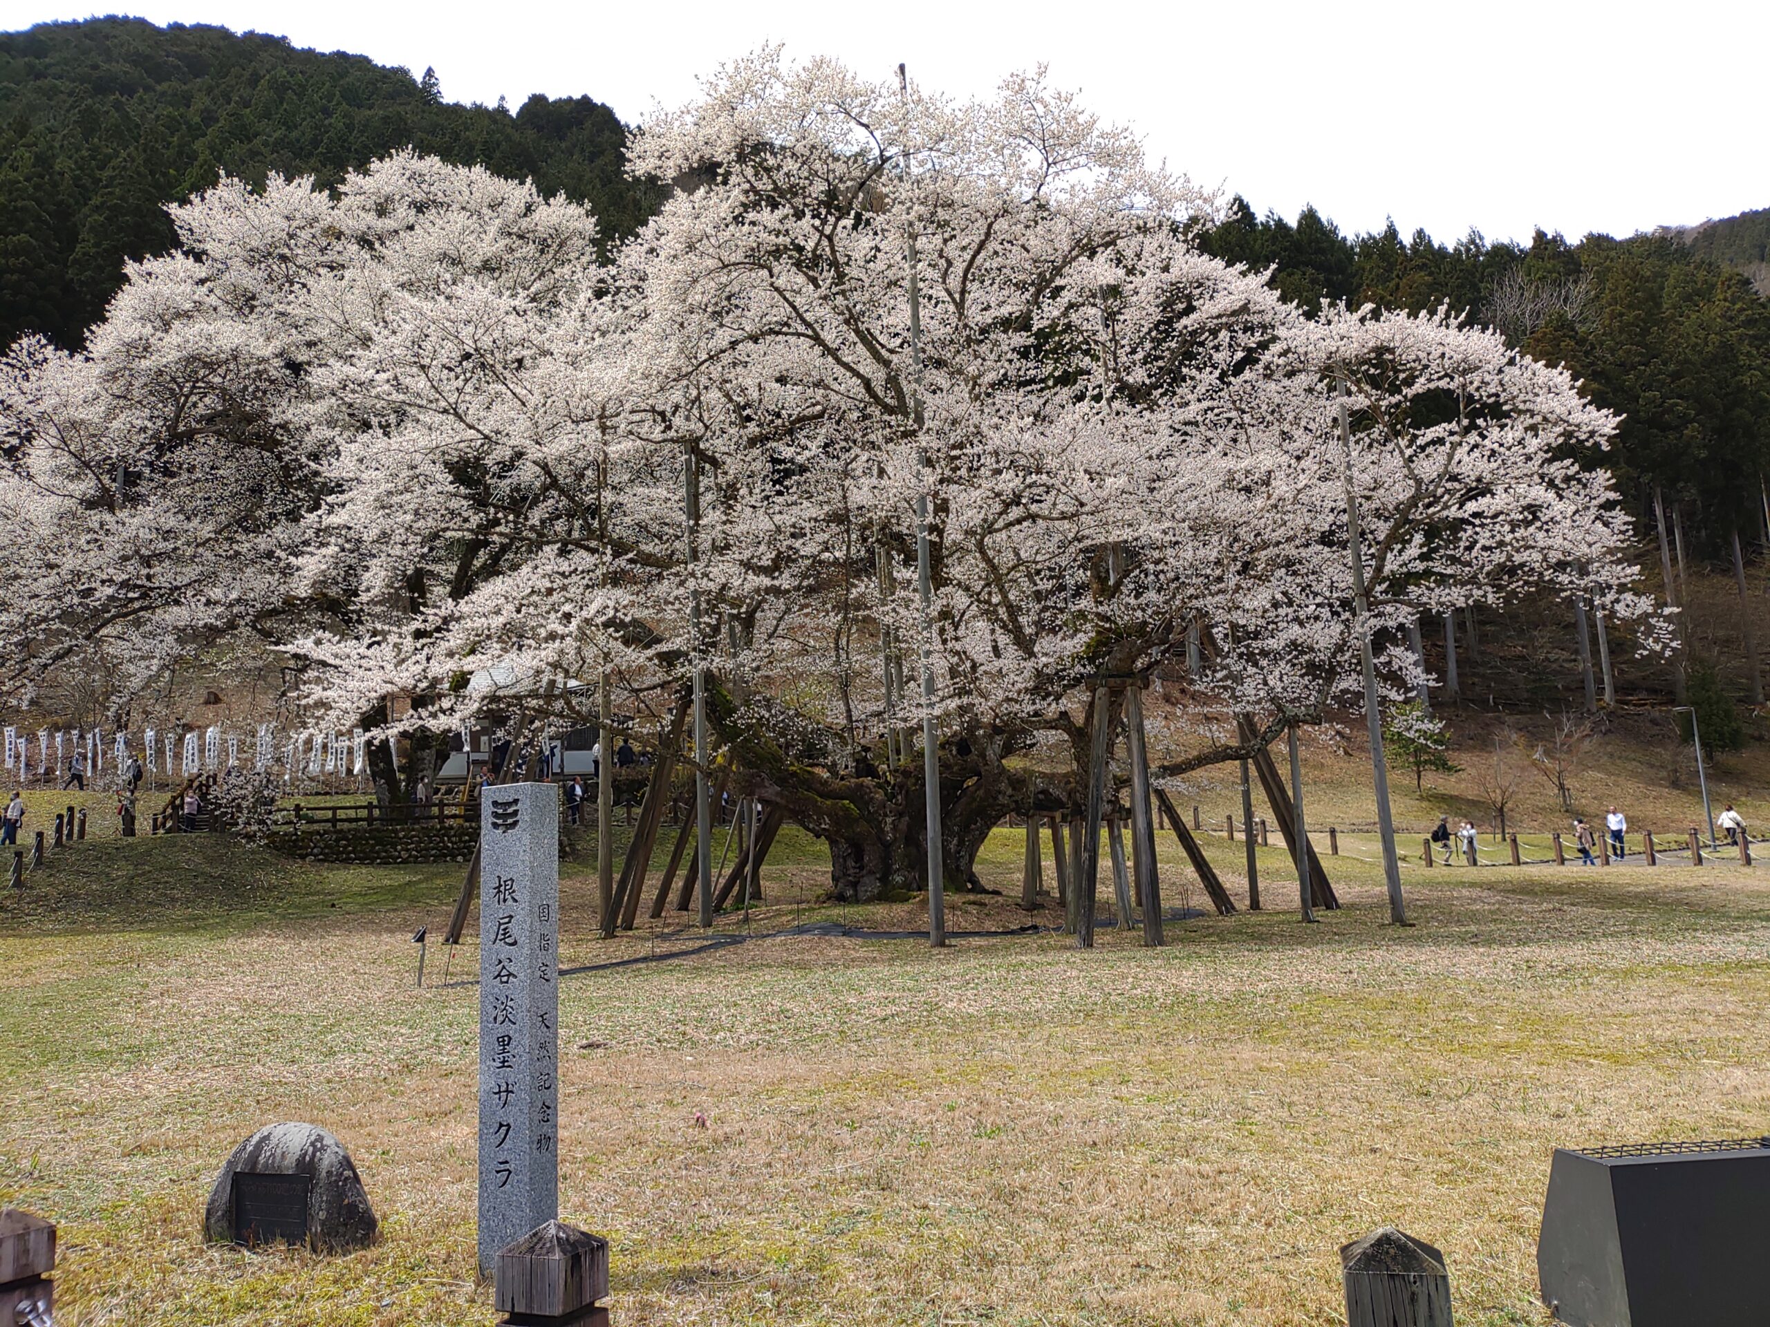
[[[1770,216],[1770,214],[1758,214]],[[1743,218],[1742,218],[1743,219]],[[1343,235],[1313,209],[1292,225],[1257,218],[1237,198],[1204,244],[1221,258],[1271,267],[1304,306],[1374,303],[1409,310],[1448,303],[1549,363],[1565,363],[1591,396],[1625,416],[1607,465],[1635,511],[1655,487],[1678,502],[1701,552],[1731,554],[1731,534],[1765,531],[1770,471],[1770,301],[1731,265],[1673,235],[1531,244],[1469,235],[1439,244],[1395,226]]]

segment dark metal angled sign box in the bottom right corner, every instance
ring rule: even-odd
[[[1536,1272],[1572,1327],[1770,1323],[1770,1138],[1558,1150]]]

